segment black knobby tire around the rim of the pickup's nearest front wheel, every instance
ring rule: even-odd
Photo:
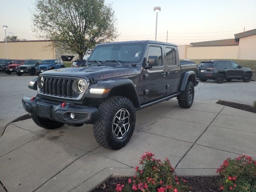
[[[129,112],[130,126],[124,137],[118,139],[114,136],[112,124],[120,109],[126,109]],[[101,146],[118,150],[129,142],[135,128],[135,122],[136,114],[131,100],[120,96],[109,97],[98,107],[98,119],[93,122],[94,137]]]

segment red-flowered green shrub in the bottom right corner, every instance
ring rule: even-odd
[[[256,192],[256,161],[250,156],[241,155],[226,159],[217,169],[223,192]]]

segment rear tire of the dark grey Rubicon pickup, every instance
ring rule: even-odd
[[[189,92],[192,90],[192,98],[189,98]],[[182,108],[190,108],[194,101],[194,85],[191,81],[187,82],[186,89],[178,96],[179,106]]]

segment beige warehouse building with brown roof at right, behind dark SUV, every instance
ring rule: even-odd
[[[234,39],[179,45],[181,59],[256,60],[256,29],[234,34]]]

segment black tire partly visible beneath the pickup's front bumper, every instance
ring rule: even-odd
[[[35,124],[45,129],[56,129],[64,125],[63,123],[60,123],[60,122],[40,118],[39,116],[34,114],[32,114],[32,119],[35,122]]]

